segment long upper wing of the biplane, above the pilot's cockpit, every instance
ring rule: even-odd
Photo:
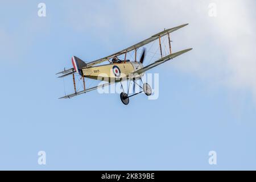
[[[188,23],[187,23],[187,24],[183,24],[183,25],[181,25],[181,26],[174,27],[174,28],[169,28],[169,29],[164,30],[164,31],[162,31],[162,32],[159,32],[158,34],[155,34],[155,35],[151,36],[150,38],[148,38],[148,39],[146,39],[146,40],[143,40],[142,42],[139,42],[139,43],[137,43],[137,44],[134,44],[134,45],[131,46],[131,47],[128,47],[128,48],[126,48],[126,49],[123,49],[122,51],[113,53],[112,55],[106,56],[106,57],[104,57],[104,58],[102,58],[102,59],[98,59],[98,60],[96,60],[96,61],[92,61],[92,62],[90,62],[90,63],[86,63],[86,64],[87,64],[87,67],[92,67],[92,66],[95,65],[95,64],[100,64],[100,63],[102,63],[102,62],[104,62],[104,61],[106,61],[106,60],[112,59],[113,57],[120,56],[120,55],[122,55],[122,54],[124,54],[124,53],[126,53],[126,52],[133,51],[134,49],[137,49],[137,48],[142,47],[142,46],[144,46],[144,45],[146,45],[146,44],[148,44],[148,43],[153,42],[154,40],[158,39],[159,36],[161,36],[161,37],[162,37],[162,36],[165,36],[165,35],[167,35],[167,34],[170,34],[171,32],[174,32],[174,31],[178,30],[179,28],[185,27],[185,26],[187,26],[187,25],[188,25]]]

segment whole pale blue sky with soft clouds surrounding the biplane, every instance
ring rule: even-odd
[[[216,17],[208,15],[210,2]],[[0,169],[256,169],[254,7],[2,2]],[[71,56],[95,60],[183,23],[189,26],[172,34],[173,50],[193,51],[149,71],[159,73],[158,100],[139,94],[125,106],[118,94],[96,91],[57,99],[64,88],[55,73],[71,67]],[[42,150],[45,166],[38,164]]]

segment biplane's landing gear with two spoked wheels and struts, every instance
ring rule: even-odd
[[[134,93],[131,96],[128,96],[129,95],[129,89],[130,89],[130,82],[129,82],[128,93],[125,93],[125,90],[123,89],[123,85],[122,85],[122,82],[121,82],[121,86],[122,86],[123,92],[120,94],[120,98],[121,98],[121,101],[123,102],[124,105],[128,105],[129,104],[129,98],[133,97],[133,96],[135,96],[135,95],[137,95],[139,93],[144,92],[147,96],[151,96],[152,90],[151,90],[150,85],[148,85],[147,83],[144,83],[143,86],[141,86],[141,85],[137,84],[137,82],[135,82],[135,80],[130,80],[130,81],[133,81],[134,84],[138,85],[142,90],[140,92],[138,92],[138,93]],[[142,80],[141,80],[141,82],[142,82]]]

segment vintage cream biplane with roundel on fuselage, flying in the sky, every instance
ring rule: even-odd
[[[179,51],[179,52],[175,52],[172,53],[172,49],[171,49],[171,39],[170,39],[170,33],[174,32],[176,30],[178,30],[181,27],[187,26],[188,24],[183,24],[181,26],[177,26],[174,28],[169,28],[167,30],[164,30],[162,32],[159,32],[158,34],[155,34],[153,36],[151,36],[150,38],[143,40],[142,42],[139,42],[137,44],[134,44],[133,46],[130,46],[126,49],[123,49],[122,51],[113,53],[110,56],[106,56],[102,59],[98,59],[95,61],[91,61],[89,63],[85,63],[84,61],[82,61],[81,59],[79,59],[79,57],[76,56],[72,56],[72,65],[73,68],[70,69],[65,69],[64,71],[61,71],[57,74],[61,74],[61,77],[65,77],[68,75],[73,75],[73,86],[74,86],[74,90],[75,93],[72,94],[68,94],[64,97],[60,97],[60,98],[71,98],[71,97],[75,97],[78,96],[80,94],[84,94],[87,92],[90,92],[92,90],[96,90],[98,88],[104,88],[105,86],[109,86],[110,84],[113,84],[115,82],[120,82],[121,83],[121,88],[122,88],[122,93],[120,94],[120,98],[123,104],[127,105],[129,104],[129,98],[132,96],[135,96],[139,93],[144,92],[147,96],[150,96],[152,94],[152,90],[149,84],[147,84],[146,82],[143,83],[142,82],[142,76],[144,75],[144,72],[148,71],[151,68],[154,68],[162,63],[165,63],[168,60],[174,59],[175,57],[191,51],[192,48],[188,48],[188,49],[184,49],[183,51]],[[162,44],[161,44],[161,38],[163,38],[163,36],[168,36],[168,46],[169,46],[169,51],[170,54],[163,56],[163,52],[162,52]],[[145,46],[146,44],[149,44],[151,42],[153,42],[154,40],[159,40],[159,48],[160,48],[160,59],[154,61],[154,63],[148,64],[144,67],[143,65],[143,61],[144,61],[144,57],[145,57],[145,49],[143,48],[143,46]],[[141,57],[139,60],[137,60],[137,50],[139,48],[143,48]],[[134,61],[128,60],[126,59],[127,53],[134,51]],[[125,56],[124,59],[120,59],[119,56]],[[108,64],[103,64],[101,65],[101,63],[104,63],[108,61]],[[75,75],[74,74],[78,74],[79,76],[81,76],[81,79],[83,81],[83,90],[77,92],[76,90],[76,81],[75,81]],[[93,80],[104,80],[106,81],[104,84],[101,85],[97,85],[97,86],[93,86],[91,88],[85,88],[85,78],[90,78]],[[130,82],[134,82],[134,85],[136,84],[135,81],[141,81],[142,85],[138,85],[141,89],[140,92],[138,93],[133,93],[129,96],[129,88],[130,88]],[[125,92],[125,90],[123,89],[123,85],[122,82],[123,81],[130,81],[129,82],[129,88],[127,90],[127,92]]]

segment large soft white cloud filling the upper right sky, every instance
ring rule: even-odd
[[[209,3],[217,17],[209,17]],[[193,47],[188,61],[177,69],[214,80],[233,89],[249,89],[256,97],[255,18],[253,1],[120,1],[130,31],[155,32],[163,27],[189,23],[174,35],[174,47]],[[182,41],[182,42],[180,42]]]

